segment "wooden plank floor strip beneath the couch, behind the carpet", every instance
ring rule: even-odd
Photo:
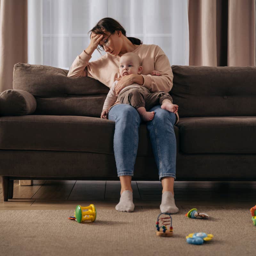
[[[120,198],[120,181],[34,180],[32,186],[14,181],[13,199],[3,200],[0,210],[72,210],[77,204],[95,204],[97,209],[115,209]],[[132,181],[135,209],[159,209],[160,181]],[[232,209],[256,204],[256,182],[175,181],[175,202],[180,209],[199,206]]]

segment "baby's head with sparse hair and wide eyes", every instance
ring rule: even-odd
[[[119,60],[119,74],[120,76],[138,75],[143,69],[141,65],[142,61],[138,54],[134,52],[124,53]]]

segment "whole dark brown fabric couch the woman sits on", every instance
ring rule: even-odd
[[[177,180],[256,180],[256,67],[172,66],[180,121]],[[115,123],[101,119],[108,87],[68,70],[17,63],[0,94],[4,201],[13,180],[119,180]],[[159,180],[142,123],[133,180]]]

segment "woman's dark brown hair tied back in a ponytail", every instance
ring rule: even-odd
[[[94,34],[96,35],[99,35],[99,34],[102,34],[102,35],[105,35],[107,36],[103,29],[105,29],[107,32],[109,33],[114,33],[116,30],[120,30],[122,31],[122,34],[124,36],[126,36],[126,31],[125,29],[123,28],[123,26],[115,19],[112,19],[112,18],[103,18],[101,20],[98,21],[98,23],[96,24],[95,27],[93,27],[89,32],[93,32]],[[91,35],[92,33],[90,34],[90,39],[91,39]],[[132,44],[143,44],[142,41],[140,41],[140,39],[138,38],[135,38],[135,37],[127,37],[131,42]],[[97,51],[100,52],[97,48]]]

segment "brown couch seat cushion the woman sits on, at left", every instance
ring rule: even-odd
[[[177,138],[179,129],[174,129]],[[0,117],[0,149],[114,154],[114,131],[114,121],[96,117],[4,116]],[[154,157],[145,123],[139,128],[137,156]]]

